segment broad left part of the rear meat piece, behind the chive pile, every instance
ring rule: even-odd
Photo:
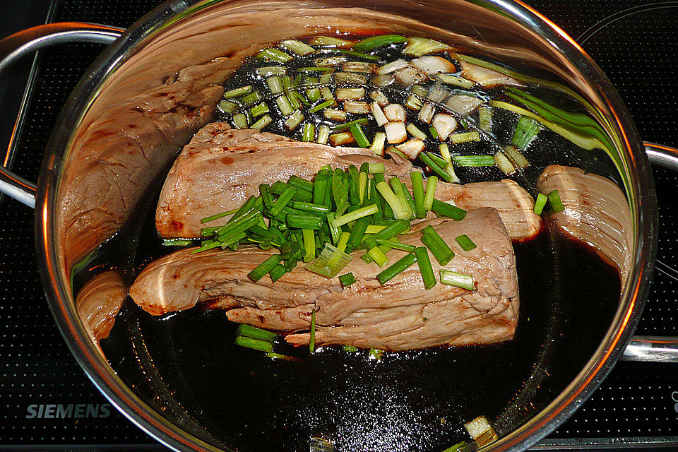
[[[366,162],[383,162],[390,176],[412,170],[398,155],[385,160],[369,149],[333,148],[211,123],[198,131],[169,171],[155,226],[162,237],[201,237],[201,218],[239,208],[259,194],[259,184],[287,181],[292,175],[312,179],[325,165],[347,169]]]

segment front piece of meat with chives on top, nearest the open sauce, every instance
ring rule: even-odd
[[[422,246],[421,230],[432,225],[456,256],[445,268],[475,278],[475,290],[438,284],[424,288],[417,265],[385,285],[374,263],[355,251],[342,273],[356,283],[342,288],[338,278],[323,278],[297,267],[272,283],[257,283],[247,273],[275,250],[204,251],[184,249],[150,263],[130,289],[132,299],[151,314],[194,307],[196,303],[228,309],[230,320],[261,328],[294,332],[293,344],[309,341],[311,311],[316,311],[317,344],[345,344],[408,350],[433,345],[492,343],[513,337],[518,320],[518,279],[511,240],[496,210],[470,210],[462,221],[424,220],[400,236]],[[463,251],[454,239],[467,234],[477,248]],[[391,263],[405,251],[388,252]],[[431,257],[436,276],[440,266]]]

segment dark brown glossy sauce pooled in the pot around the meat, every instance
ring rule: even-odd
[[[236,76],[226,89],[248,81]],[[549,93],[540,97],[559,104]],[[510,142],[517,118],[496,109],[499,143]],[[299,138],[278,121],[264,131]],[[492,145],[463,143],[451,150],[487,154]],[[614,172],[602,153],[576,148],[547,130],[525,155],[532,166],[515,179],[528,190],[554,163]],[[457,174],[464,182],[506,177],[496,167],[459,168]],[[157,193],[147,199],[157,201]],[[107,254],[129,251],[122,255],[134,258],[118,268],[128,283],[147,263],[174,251],[161,246],[155,233],[155,205],[141,207],[145,221],[102,246],[97,258],[112,261]],[[393,352],[378,360],[368,350],[341,347],[309,356],[307,347],[279,341],[274,351],[302,359],[287,362],[234,345],[237,324],[227,321],[225,311],[198,306],[154,317],[128,299],[101,345],[141,398],[218,446],[307,451],[316,436],[333,441],[337,451],[442,451],[470,441],[463,424],[475,417],[487,417],[503,436],[544,408],[593,354],[617,309],[619,273],[588,246],[545,228],[513,248],[521,307],[516,336],[504,343]]]

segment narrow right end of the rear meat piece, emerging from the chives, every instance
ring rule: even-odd
[[[410,178],[403,179],[412,191]],[[427,180],[424,180],[424,188]],[[472,182],[470,184],[448,184],[439,181],[436,185],[436,199],[452,201],[456,206],[470,210],[481,207],[494,208],[514,240],[525,240],[539,234],[542,218],[534,212],[535,200],[517,182],[503,179],[499,182]],[[434,215],[429,213],[429,217]]]

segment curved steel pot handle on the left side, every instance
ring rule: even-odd
[[[43,47],[70,42],[111,44],[123,32],[123,28],[82,22],[49,23],[28,28],[0,40],[0,76],[14,61]],[[4,165],[0,165],[0,193],[35,208],[37,186]]]

